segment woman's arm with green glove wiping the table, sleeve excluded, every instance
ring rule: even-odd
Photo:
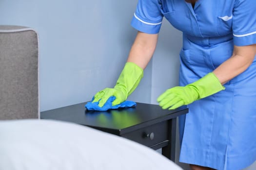
[[[119,75],[117,84],[114,88],[105,88],[94,95],[93,102],[98,102],[102,107],[111,96],[116,99],[112,105],[124,102],[127,97],[135,90],[143,77],[143,69],[156,49],[158,34],[145,34],[138,32],[136,39],[131,48],[127,63]]]

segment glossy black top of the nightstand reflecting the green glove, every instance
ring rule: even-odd
[[[40,113],[41,119],[55,119],[125,133],[188,113],[186,107],[163,110],[159,105],[137,102],[136,107],[109,111],[87,111],[86,102]],[[115,132],[112,132],[115,133]]]

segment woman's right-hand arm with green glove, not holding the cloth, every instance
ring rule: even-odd
[[[166,90],[158,97],[159,105],[163,109],[176,109],[225,89],[222,85],[245,71],[252,64],[255,55],[256,44],[235,46],[231,58],[216,68],[214,73],[210,72],[189,85]]]

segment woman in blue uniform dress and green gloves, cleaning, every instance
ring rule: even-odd
[[[183,32],[179,85],[158,102],[188,105],[179,118],[180,162],[193,170],[240,170],[256,160],[255,0],[138,0],[138,35],[117,85],[95,95],[123,102],[137,87],[157,44],[162,18]]]

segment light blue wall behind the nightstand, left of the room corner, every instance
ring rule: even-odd
[[[91,100],[113,87],[137,31],[137,0],[1,0],[0,24],[39,34],[40,110]],[[151,101],[151,65],[130,100]]]

